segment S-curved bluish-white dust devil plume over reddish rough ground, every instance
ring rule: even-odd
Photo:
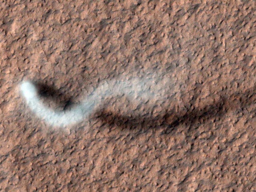
[[[79,105],[71,110],[57,111],[46,107],[38,95],[36,86],[30,81],[20,84],[20,91],[29,108],[48,124],[57,127],[73,125],[89,118],[104,102],[106,97],[125,95],[129,99],[149,100],[161,98],[163,86],[152,83],[152,80],[131,78],[129,80],[112,80],[100,84]]]

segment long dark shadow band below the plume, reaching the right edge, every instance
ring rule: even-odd
[[[220,99],[204,106],[204,108],[195,108],[192,100],[190,108],[185,113],[175,113],[174,110],[167,110],[164,115],[159,115],[155,118],[151,116],[126,116],[115,112],[108,112],[106,110],[98,111],[95,114],[96,118],[100,118],[103,124],[117,125],[121,129],[129,127],[130,129],[136,129],[140,124],[141,127],[162,127],[166,126],[166,130],[163,134],[172,132],[179,124],[185,123],[189,127],[198,127],[200,124],[204,124],[209,120],[219,120],[229,110],[241,111],[246,106],[256,103],[256,86],[247,89],[244,92],[235,92],[231,95],[220,95]],[[171,101],[170,101],[171,102]]]

